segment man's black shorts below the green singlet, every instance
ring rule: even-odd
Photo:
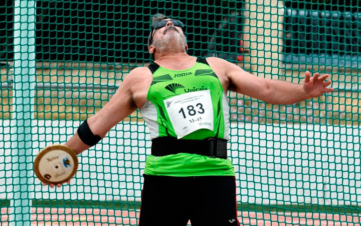
[[[233,176],[144,176],[139,226],[239,226]]]

